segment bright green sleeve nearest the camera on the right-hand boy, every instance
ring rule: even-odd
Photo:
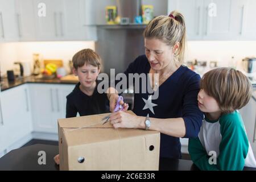
[[[221,143],[218,168],[221,170],[242,170],[249,148],[241,115],[234,112],[220,119]]]

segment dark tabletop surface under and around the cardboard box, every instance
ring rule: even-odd
[[[46,164],[39,165],[40,160],[39,151],[46,152]],[[58,146],[49,144],[34,144],[27,147],[22,147],[12,150],[2,158],[0,158],[0,171],[1,170],[33,170],[33,171],[57,171],[57,166],[53,160],[54,156],[59,153]],[[41,161],[41,160],[40,160]],[[182,159],[167,159],[160,158],[159,171],[195,171],[198,168],[192,163],[191,160]],[[245,171],[256,171],[256,168],[245,167]]]

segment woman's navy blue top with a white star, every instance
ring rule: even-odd
[[[149,73],[150,64],[145,55],[137,57],[125,71],[129,73]],[[127,77],[128,78],[128,77]],[[203,113],[197,105],[197,94],[200,87],[200,76],[191,69],[180,66],[162,85],[159,86],[159,97],[152,100],[154,113],[150,109],[144,109],[145,100],[148,100],[149,93],[134,94],[134,113],[140,116],[149,114],[152,118],[183,118],[185,122],[185,137],[197,137]],[[127,79],[128,80],[128,79]],[[142,82],[139,83],[140,87]],[[180,139],[170,135],[160,135],[160,157],[181,158]]]

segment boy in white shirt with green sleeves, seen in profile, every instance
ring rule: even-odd
[[[237,111],[249,102],[251,92],[249,79],[235,69],[216,68],[203,76],[197,100],[205,118],[198,137],[189,139],[188,143],[191,159],[201,170],[256,167]],[[209,158],[209,155],[213,156]]]

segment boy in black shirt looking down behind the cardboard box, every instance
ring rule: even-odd
[[[66,118],[109,113],[106,93],[98,93],[97,77],[101,69],[101,58],[92,49],[82,49],[72,59],[73,73],[79,83],[67,96]]]

